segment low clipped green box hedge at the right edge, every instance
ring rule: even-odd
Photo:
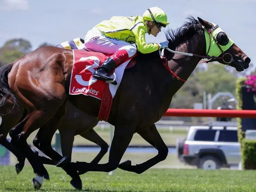
[[[256,140],[243,139],[243,169],[256,169]]]

